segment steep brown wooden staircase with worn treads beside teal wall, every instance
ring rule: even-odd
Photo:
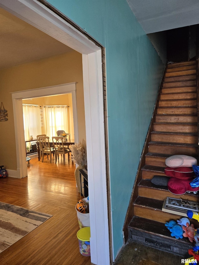
[[[165,159],[171,155],[198,158],[196,61],[167,66],[154,119],[141,180],[136,184],[137,197],[132,203],[134,216],[128,225],[128,236],[129,240],[186,256],[192,243],[187,238],[171,237],[164,226],[182,216],[163,212],[162,206],[167,196],[197,201],[199,195],[174,195],[167,187],[152,184],[150,179],[165,176]],[[197,221],[192,223],[198,227]]]

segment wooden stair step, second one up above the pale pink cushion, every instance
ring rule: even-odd
[[[170,143],[197,144],[197,133],[179,133],[179,132],[151,132],[151,141],[160,142],[164,140]]]

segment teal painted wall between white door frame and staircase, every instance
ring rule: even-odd
[[[106,48],[114,257],[163,72],[126,0],[49,0]]]

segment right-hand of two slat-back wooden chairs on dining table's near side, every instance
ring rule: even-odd
[[[59,160],[59,154],[63,155],[63,163],[65,165],[65,154],[68,154],[69,159],[69,153],[71,150],[68,147],[65,147],[63,144],[63,137],[62,136],[53,136],[53,147],[55,150],[55,163],[57,163],[57,157]]]

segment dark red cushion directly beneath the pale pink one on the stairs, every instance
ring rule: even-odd
[[[166,176],[175,177],[182,180],[189,180],[195,176],[192,167],[166,167],[164,169],[164,173]]]

